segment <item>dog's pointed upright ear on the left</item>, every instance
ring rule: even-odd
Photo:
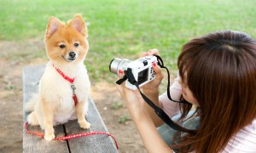
[[[51,37],[55,31],[57,31],[61,26],[61,21],[55,18],[54,16],[49,18],[48,25],[45,32],[45,37]]]

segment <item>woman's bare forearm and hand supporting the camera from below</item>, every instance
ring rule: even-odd
[[[152,118],[145,109],[144,105],[146,104],[139,91],[126,88],[125,82],[117,85],[117,88],[148,152],[172,152],[157,132]]]

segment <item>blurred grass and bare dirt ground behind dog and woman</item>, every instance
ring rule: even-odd
[[[119,152],[146,152],[116,93],[116,76],[108,71],[111,59],[137,59],[158,48],[175,77],[177,56],[191,38],[224,29],[256,38],[255,6],[255,0],[1,0],[0,152],[22,151],[22,68],[48,61],[44,31],[50,16],[62,21],[83,16],[92,99],[118,138]]]

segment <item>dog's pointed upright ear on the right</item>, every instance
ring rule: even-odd
[[[72,26],[75,30],[79,31],[84,37],[87,35],[87,27],[81,15],[76,15],[73,20],[67,23],[67,26]]]

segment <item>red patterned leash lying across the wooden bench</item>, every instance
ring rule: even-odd
[[[32,131],[29,131],[28,130],[28,122],[26,122],[24,124],[24,128],[26,130],[26,133],[31,133],[31,134],[34,134],[34,135],[38,135],[41,138],[44,138],[44,133],[34,133]],[[68,136],[64,136],[64,137],[55,138],[54,140],[75,139],[75,138],[79,138],[79,137],[85,137],[85,136],[90,136],[90,135],[100,135],[100,134],[110,136],[114,141],[116,149],[117,150],[119,149],[119,146],[118,146],[116,140],[114,139],[113,135],[111,135],[110,133],[105,133],[105,132],[77,133],[77,134],[72,134],[72,135],[68,135]]]

